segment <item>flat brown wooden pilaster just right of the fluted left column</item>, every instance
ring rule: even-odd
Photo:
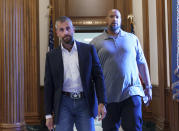
[[[38,0],[24,0],[24,116],[27,124],[40,124],[38,13]]]

